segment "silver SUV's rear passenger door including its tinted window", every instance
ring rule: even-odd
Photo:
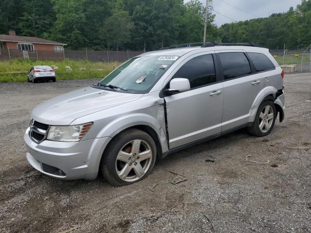
[[[255,73],[243,50],[217,51],[217,58],[224,85],[224,132],[248,123],[251,106],[262,89],[263,80],[260,73]]]

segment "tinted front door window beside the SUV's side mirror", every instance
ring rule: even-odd
[[[191,88],[215,83],[216,74],[212,54],[192,58],[180,67],[173,78],[189,79]]]

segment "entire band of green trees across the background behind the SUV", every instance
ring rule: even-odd
[[[1,0],[0,33],[43,37],[73,50],[157,50],[203,41],[200,0]],[[294,9],[220,28],[209,12],[207,41],[254,42],[267,48],[311,43],[311,0]]]

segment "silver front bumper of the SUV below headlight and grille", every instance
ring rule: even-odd
[[[33,142],[26,130],[27,160],[38,171],[59,179],[93,180],[97,177],[104,148],[110,137],[79,142]]]

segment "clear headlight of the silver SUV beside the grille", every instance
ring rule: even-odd
[[[80,141],[93,123],[72,126],[50,126],[47,140],[60,142],[77,142]]]

